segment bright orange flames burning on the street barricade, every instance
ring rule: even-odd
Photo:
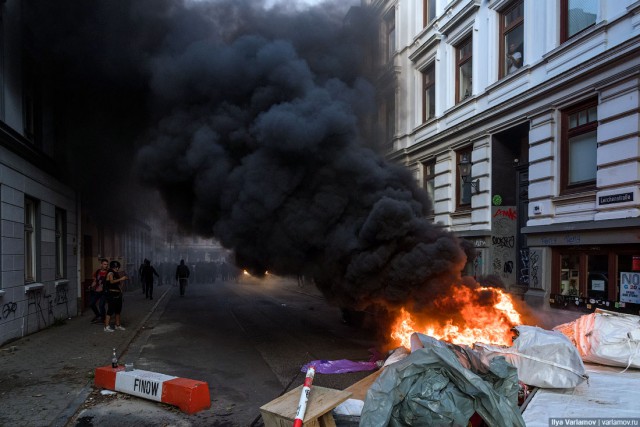
[[[480,294],[485,292],[489,292],[493,305],[479,302]],[[450,296],[436,301],[434,305],[451,307],[452,304],[458,307],[460,320],[448,319],[443,323],[426,321],[418,324],[411,313],[403,308],[393,324],[391,338],[406,348],[411,348],[411,334],[414,332],[454,344],[484,342],[510,346],[513,335],[511,328],[522,323],[511,296],[500,289],[454,286]]]

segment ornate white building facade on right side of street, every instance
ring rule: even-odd
[[[363,0],[386,155],[541,309],[640,310],[640,1]]]

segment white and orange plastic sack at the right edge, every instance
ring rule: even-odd
[[[554,330],[575,343],[585,362],[640,368],[640,316],[596,310]]]

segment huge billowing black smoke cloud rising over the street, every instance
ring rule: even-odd
[[[27,3],[64,100],[59,134],[99,210],[96,174],[112,200],[146,200],[135,179],[240,267],[311,276],[341,306],[422,304],[458,281],[458,241],[363,138],[366,13],[345,25],[342,1]]]

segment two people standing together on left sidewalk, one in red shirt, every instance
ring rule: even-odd
[[[122,293],[123,282],[127,280],[126,275],[120,274],[120,262],[102,258],[100,269],[94,276],[91,287],[90,307],[95,315],[91,323],[104,323],[105,332],[124,331],[120,324],[120,314],[122,313]],[[111,317],[115,320],[115,325],[111,327]]]

